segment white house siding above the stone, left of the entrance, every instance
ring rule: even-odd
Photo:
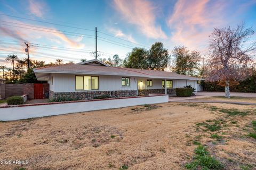
[[[137,79],[130,77],[130,86],[122,86],[122,77],[113,75],[95,75],[99,76],[99,90],[76,90],[75,74],[51,74],[50,90],[54,92],[78,92],[78,91],[111,91],[111,90],[137,90]]]

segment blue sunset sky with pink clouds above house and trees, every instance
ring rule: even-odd
[[[256,0],[0,0],[0,65],[11,66],[9,54],[32,60],[79,62],[95,52],[99,58],[133,47],[150,48],[156,41],[171,50],[186,46],[207,53],[215,27],[245,23],[256,30]]]

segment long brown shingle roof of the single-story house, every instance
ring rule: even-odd
[[[187,79],[187,80],[201,80],[187,75],[180,75],[174,72],[156,71],[156,70],[141,70],[129,69],[122,67],[106,67],[95,65],[82,64],[63,64],[50,67],[39,67],[34,69],[37,73],[74,73],[74,74],[99,74],[99,75],[121,75],[133,77],[159,78],[159,79]]]

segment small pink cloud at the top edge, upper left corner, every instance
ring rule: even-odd
[[[46,4],[42,1],[29,0],[29,11],[37,17],[43,18],[43,12],[47,9]]]

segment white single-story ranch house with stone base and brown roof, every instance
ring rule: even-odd
[[[175,94],[175,88],[191,84],[196,77],[167,71],[111,67],[94,59],[78,64],[63,64],[34,69],[37,80],[48,81],[49,97],[93,99],[95,96],[141,96]]]

